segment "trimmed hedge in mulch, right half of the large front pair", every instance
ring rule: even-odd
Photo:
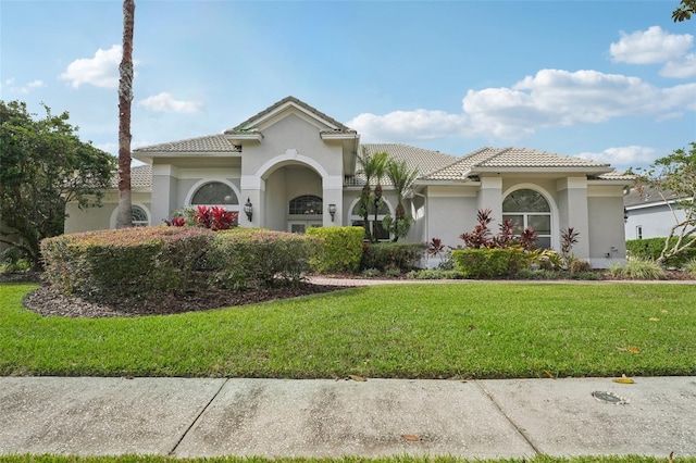
[[[321,246],[321,238],[309,235],[233,228],[215,234],[208,261],[215,280],[234,289],[271,287],[276,278],[298,285]]]

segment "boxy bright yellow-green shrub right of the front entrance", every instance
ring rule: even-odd
[[[357,273],[362,259],[363,227],[312,227],[307,235],[323,239],[319,254],[310,260],[313,272]]]

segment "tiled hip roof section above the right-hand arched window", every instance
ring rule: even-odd
[[[608,168],[609,164],[529,148],[482,148],[428,175],[427,179],[463,178],[476,168]]]

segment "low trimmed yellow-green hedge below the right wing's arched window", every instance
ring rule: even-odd
[[[464,278],[496,278],[524,267],[524,253],[520,248],[457,249],[452,251],[452,259]]]

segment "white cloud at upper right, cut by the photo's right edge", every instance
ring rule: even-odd
[[[616,63],[664,63],[661,76],[689,78],[696,76],[696,57],[689,53],[693,47],[693,35],[669,34],[652,26],[633,34],[621,33],[621,39],[609,46],[609,53]]]

